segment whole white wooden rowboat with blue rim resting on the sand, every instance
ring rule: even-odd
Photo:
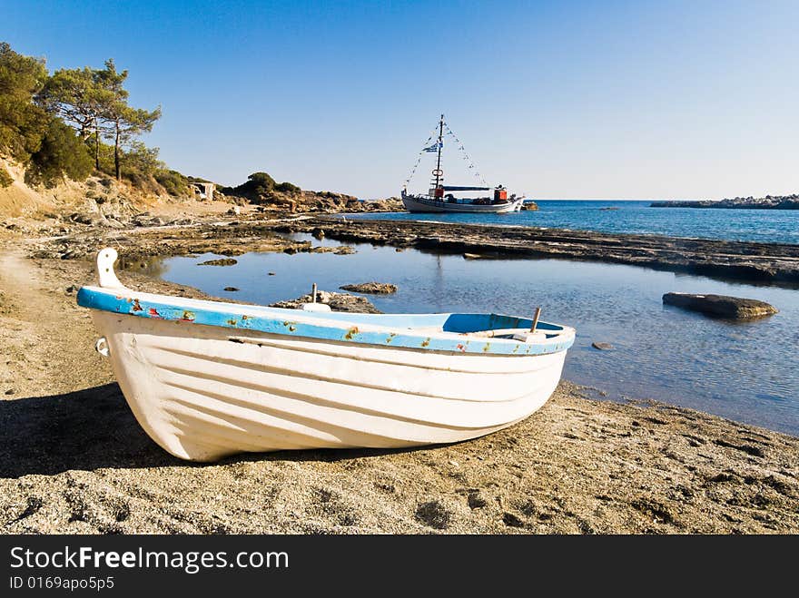
[[[557,386],[573,328],[495,314],[277,309],[127,289],[97,257],[95,348],[146,433],[174,456],[401,447],[483,436]]]

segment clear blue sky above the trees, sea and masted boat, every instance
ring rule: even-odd
[[[396,195],[443,112],[489,183],[531,197],[799,192],[796,0],[0,0],[0,15],[0,40],[51,70],[113,57],[132,103],[163,108],[144,141],[226,184],[266,171]]]

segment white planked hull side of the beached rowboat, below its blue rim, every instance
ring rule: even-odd
[[[92,312],[143,429],[174,456],[401,447],[483,436],[528,417],[566,351],[424,355]]]

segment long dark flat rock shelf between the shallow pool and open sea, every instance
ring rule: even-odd
[[[660,235],[540,229],[423,221],[309,217],[277,222],[274,230],[310,232],[346,242],[412,247],[472,258],[518,257],[593,260],[689,272],[720,279],[799,283],[799,246]]]

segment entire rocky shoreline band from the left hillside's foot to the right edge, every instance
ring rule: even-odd
[[[794,287],[799,284],[799,246],[749,241],[681,239],[589,230],[381,221],[335,215],[266,215],[248,207],[238,214],[195,214],[164,220],[140,215],[123,228],[70,221],[13,221],[36,258],[87,259],[105,245],[125,260],[214,253],[234,257],[249,251],[334,251],[287,233],[309,233],[345,243],[465,254],[469,259],[548,258],[590,260],[686,272],[717,279]]]

